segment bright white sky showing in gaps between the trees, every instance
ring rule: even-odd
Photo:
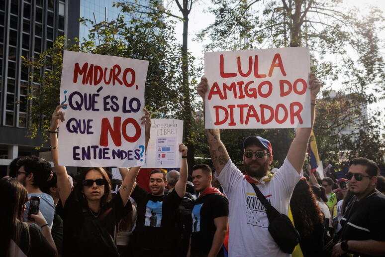
[[[263,0],[262,0],[263,1]],[[210,0],[199,0],[199,4],[195,4],[193,7],[193,10],[190,13],[189,16],[189,42],[188,47],[189,51],[192,52],[193,56],[195,56],[197,59],[201,59],[203,62],[203,45],[204,42],[196,42],[193,41],[193,38],[195,38],[195,34],[202,30],[203,28],[207,27],[210,23],[214,21],[214,16],[205,13],[204,10],[207,9],[207,6],[209,4]],[[385,15],[385,0],[344,0],[344,4],[347,8],[355,6],[360,6],[360,10],[365,14],[366,9],[365,6],[368,5],[377,5],[380,7],[381,10],[384,11]],[[176,11],[174,13],[179,13],[179,10],[177,9],[177,5],[173,5],[174,8],[176,8]],[[183,22],[178,22],[176,27],[176,34],[177,38],[182,43],[182,33],[183,33]],[[380,38],[384,40],[383,42],[383,52],[385,53],[385,30],[383,30],[380,33]],[[331,86],[333,90],[338,90],[340,83],[335,82]],[[381,101],[380,103],[371,105],[369,107],[370,110],[381,108],[382,110],[385,110],[385,101]],[[371,112],[371,111],[370,111]],[[370,113],[369,112],[369,113]]]

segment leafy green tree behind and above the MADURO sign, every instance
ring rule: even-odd
[[[151,6],[156,9],[159,2],[150,1]],[[180,111],[185,107],[185,100],[181,95],[185,95],[185,90],[192,95],[192,89],[180,87],[183,76],[180,71],[182,52],[180,45],[174,36],[174,22],[165,21],[163,14],[157,11],[140,13],[139,6],[121,6],[122,11],[130,16],[127,21],[124,16],[119,16],[115,22],[103,21],[94,24],[90,20],[84,19],[83,22],[93,26],[89,39],[81,44],[80,47],[70,48],[69,50],[82,51],[87,53],[114,55],[119,57],[149,60],[145,88],[145,104],[147,110],[152,112],[154,118],[181,118]],[[100,37],[100,44],[99,42]],[[37,80],[44,85],[55,85],[56,88],[49,87],[47,90],[52,95],[52,102],[39,109],[35,105],[44,102],[47,94],[39,94],[36,101],[33,101],[31,112],[48,112],[49,114],[41,117],[42,123],[39,128],[47,128],[49,118],[54,107],[59,103],[59,88],[61,76],[62,51],[65,49],[66,42],[59,38],[52,49],[42,54],[37,60],[30,60],[28,65],[34,69],[42,69],[41,63],[46,56],[55,53],[57,62],[54,65],[55,73],[52,77],[39,76]],[[48,63],[46,63],[47,65]],[[50,63],[49,65],[52,65]],[[196,77],[199,69],[191,65],[190,74]],[[192,83],[196,83],[192,81]],[[194,105],[194,103],[192,104]],[[33,133],[37,132],[38,126],[30,127]]]

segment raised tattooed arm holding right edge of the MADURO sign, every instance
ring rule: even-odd
[[[146,135],[145,149],[147,151],[148,141],[150,140],[151,114],[146,109],[143,109],[143,111],[144,111],[144,116],[142,116],[140,120],[142,121],[141,124],[145,125],[145,135]],[[135,180],[136,180],[136,177],[138,176],[139,170],[140,170],[140,166],[131,167],[128,172],[127,172],[127,169],[125,168],[119,169],[119,172],[122,175],[122,178],[125,173],[125,177],[119,191],[120,197],[122,198],[124,206],[127,204],[128,198],[130,198],[130,195],[136,186]]]

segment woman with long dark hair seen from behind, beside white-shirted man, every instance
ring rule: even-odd
[[[290,210],[294,226],[301,236],[299,246],[302,256],[322,256],[323,215],[305,177],[302,177],[294,187]]]

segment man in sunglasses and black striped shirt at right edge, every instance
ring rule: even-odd
[[[385,196],[376,189],[379,167],[367,158],[349,162],[346,175],[353,198],[341,219],[340,243],[332,257],[385,256]]]

